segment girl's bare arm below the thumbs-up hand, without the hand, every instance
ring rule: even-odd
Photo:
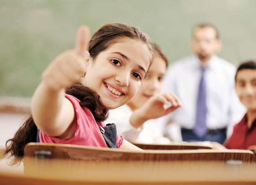
[[[74,108],[65,98],[65,90],[51,89],[45,81],[36,89],[31,103],[34,122],[47,135],[62,135],[74,120]]]

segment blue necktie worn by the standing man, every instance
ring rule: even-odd
[[[193,132],[198,137],[203,137],[207,133],[207,126],[206,126],[206,88],[205,88],[205,81],[204,81],[204,71],[205,68],[202,68],[202,78],[199,84],[199,93],[197,99],[197,110],[196,110],[196,117],[195,117],[195,127],[193,128]]]

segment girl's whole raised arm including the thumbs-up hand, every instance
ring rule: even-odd
[[[31,102],[31,113],[39,130],[50,136],[71,138],[76,130],[72,103],[65,98],[65,88],[79,81],[87,59],[89,29],[81,26],[77,32],[76,49],[58,55],[42,75]]]

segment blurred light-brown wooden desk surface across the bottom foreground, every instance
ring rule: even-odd
[[[72,161],[25,158],[19,166],[0,160],[0,184],[251,185],[256,163]]]

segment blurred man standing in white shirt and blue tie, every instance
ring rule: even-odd
[[[174,93],[183,104],[162,119],[164,124],[167,123],[165,131],[167,137],[173,139],[168,135],[171,133],[168,123],[173,122],[180,125],[183,141],[216,141],[222,144],[246,111],[234,89],[236,67],[216,55],[222,44],[217,29],[211,24],[194,27],[191,48],[195,55],[170,64],[164,77],[163,91]],[[204,95],[198,96],[202,74]],[[199,110],[197,102],[204,96],[205,108],[198,113],[204,112],[203,122],[206,129],[198,134],[195,130],[196,123],[199,122],[196,121]]]

